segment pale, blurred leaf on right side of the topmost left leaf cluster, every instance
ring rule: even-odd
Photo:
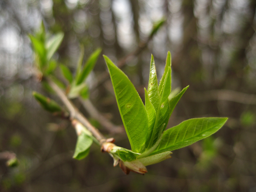
[[[46,49],[47,49],[47,55],[46,58],[48,61],[52,58],[52,55],[55,53],[55,51],[60,46],[62,40],[64,37],[63,32],[59,32],[56,35],[53,35],[49,40],[46,42]]]

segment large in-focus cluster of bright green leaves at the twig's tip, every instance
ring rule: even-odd
[[[148,89],[145,89],[145,105],[128,77],[104,56],[107,63],[117,105],[121,114],[132,152],[139,153],[134,158],[131,153],[122,161],[140,161],[145,166],[169,158],[170,151],[186,147],[219,130],[227,118],[196,118],[183,121],[168,130],[166,126],[180,93],[171,92],[171,56],[167,54],[164,73],[158,84],[153,56],[151,56]],[[128,156],[133,156],[133,158]]]

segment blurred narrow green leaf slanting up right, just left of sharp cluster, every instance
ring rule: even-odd
[[[77,79],[76,85],[83,83],[84,80],[87,78],[88,74],[93,70],[94,65],[96,64],[96,62],[99,58],[100,52],[101,52],[101,49],[98,48],[96,51],[94,51],[90,55],[89,59],[85,63],[83,70],[81,71],[81,73],[79,73],[79,77]]]

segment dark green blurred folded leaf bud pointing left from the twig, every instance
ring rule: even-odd
[[[43,96],[35,91],[33,92],[33,96],[45,110],[50,111],[52,113],[62,111],[62,108],[59,106],[59,104],[57,104],[49,97]]]

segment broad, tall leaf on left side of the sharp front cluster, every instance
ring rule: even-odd
[[[148,119],[145,106],[128,77],[104,55],[117,105],[133,152],[143,152],[148,140]]]

